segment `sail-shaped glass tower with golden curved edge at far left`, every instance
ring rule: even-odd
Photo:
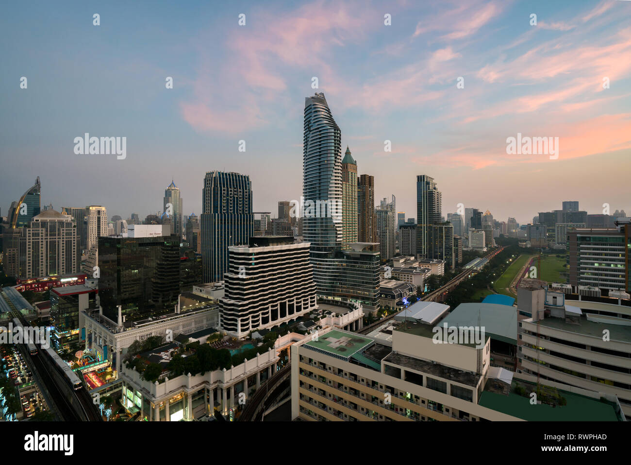
[[[3,227],[3,267],[4,272],[13,277],[24,273],[26,257],[20,257],[20,228],[41,212],[40,192],[42,184],[39,176],[35,184],[20,197],[18,202],[11,202],[7,223]]]

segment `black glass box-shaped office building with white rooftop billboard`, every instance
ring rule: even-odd
[[[163,234],[167,235],[163,235]],[[98,238],[98,295],[103,315],[173,308],[180,290],[180,237],[170,227],[129,225],[127,237]]]

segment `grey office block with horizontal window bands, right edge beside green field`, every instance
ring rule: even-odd
[[[631,224],[567,229],[572,286],[631,291]]]

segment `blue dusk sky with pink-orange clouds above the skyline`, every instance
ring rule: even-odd
[[[40,176],[57,210],[144,218],[173,179],[199,215],[214,170],[249,174],[276,214],[302,195],[304,99],[324,92],[342,152],[406,217],[418,174],[445,217],[631,215],[630,19],[624,0],[8,3],[1,214]],[[126,137],[126,158],[75,154],[85,133]],[[558,137],[558,157],[507,153],[518,133]]]

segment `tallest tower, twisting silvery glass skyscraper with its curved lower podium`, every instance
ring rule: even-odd
[[[368,250],[372,244],[360,243],[352,243],[350,249],[342,251],[340,141],[341,131],[324,94],[307,97],[304,111],[303,196],[305,207],[314,203],[316,209],[315,214],[309,214],[305,208],[302,236],[310,243],[318,295],[358,301],[367,311],[376,311],[379,308],[379,252]],[[321,207],[318,209],[317,205]],[[322,214],[324,206],[328,206],[326,214]],[[370,209],[374,210],[374,204],[370,205]]]

